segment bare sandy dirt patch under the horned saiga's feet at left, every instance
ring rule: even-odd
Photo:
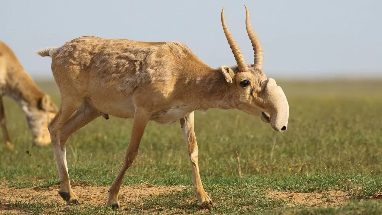
[[[107,200],[108,186],[74,186],[81,205],[104,206]],[[25,202],[27,204],[54,204],[52,210],[59,210],[66,206],[65,201],[58,195],[58,186],[52,186],[45,189],[24,188],[15,189],[12,187],[0,187],[0,215],[3,214],[25,214],[21,207],[12,206],[9,202]],[[123,209],[124,205],[134,204],[137,200],[147,197],[153,197],[170,192],[178,192],[185,189],[184,186],[153,186],[142,184],[138,186],[123,186],[120,189],[119,203]]]

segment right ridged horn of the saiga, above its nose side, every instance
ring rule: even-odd
[[[249,21],[249,11],[248,11],[248,8],[247,6],[245,6],[245,12],[246,12],[246,15],[245,15],[245,27],[247,29],[247,33],[248,33],[248,36],[249,36],[249,39],[251,40],[251,43],[252,43],[252,47],[253,47],[253,52],[254,52],[254,66],[257,67],[257,68],[262,68],[262,63],[263,63],[263,58],[264,58],[264,55],[263,55],[263,50],[262,50],[262,46],[261,46],[261,43],[259,41],[259,38],[257,38],[255,32],[253,31],[252,27],[251,27],[251,22]]]

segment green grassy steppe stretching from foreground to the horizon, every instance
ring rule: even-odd
[[[121,205],[65,206],[63,214],[170,212],[263,214],[382,213],[382,203],[369,201],[382,189],[382,80],[278,81],[290,106],[288,130],[275,132],[259,118],[238,110],[211,109],[195,114],[199,169],[214,201],[210,210],[197,207],[191,188]],[[54,83],[39,83],[59,104]],[[19,108],[5,99],[8,131],[18,154],[0,143],[0,181],[17,188],[57,183],[52,147],[32,147],[31,134]],[[70,178],[109,186],[123,162],[131,119],[102,117],[78,130],[67,145]],[[25,151],[29,151],[29,154]],[[236,154],[237,153],[237,154]],[[237,156],[242,177],[239,176]],[[179,123],[150,122],[139,154],[123,185],[191,185],[191,167]],[[340,207],[288,207],[266,190],[318,192],[341,190],[351,201]],[[1,199],[1,194],[0,194]],[[1,202],[1,200],[0,200]],[[50,202],[50,201],[48,201]],[[31,213],[50,213],[50,203],[8,202]],[[26,209],[24,209],[26,208]],[[127,208],[128,211],[123,210]],[[1,212],[1,208],[0,208]]]

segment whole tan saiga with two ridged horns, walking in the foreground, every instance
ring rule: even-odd
[[[180,121],[191,161],[198,205],[210,206],[199,175],[194,133],[194,111],[209,108],[240,109],[286,130],[289,106],[280,86],[262,72],[263,51],[251,28],[246,9],[246,29],[254,49],[254,64],[246,64],[221,13],[222,26],[237,66],[211,68],[180,42],[141,42],[127,39],[78,37],[61,47],[37,54],[52,58],[52,72],[61,93],[57,115],[49,124],[58,167],[59,194],[78,203],[70,186],[66,141],[73,132],[99,116],[133,118],[125,160],[108,190],[107,206],[118,208],[118,192],[133,163],[147,122]]]

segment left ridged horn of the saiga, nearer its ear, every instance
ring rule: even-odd
[[[248,66],[247,66],[247,63],[245,62],[243,53],[240,51],[238,44],[236,44],[235,39],[233,39],[233,36],[228,30],[227,24],[225,23],[224,9],[225,9],[225,6],[223,7],[223,10],[222,10],[222,26],[223,26],[224,34],[225,34],[225,37],[227,38],[228,44],[230,44],[230,48],[232,50],[233,56],[235,57],[236,63],[238,64],[239,71],[244,72],[248,70]]]

